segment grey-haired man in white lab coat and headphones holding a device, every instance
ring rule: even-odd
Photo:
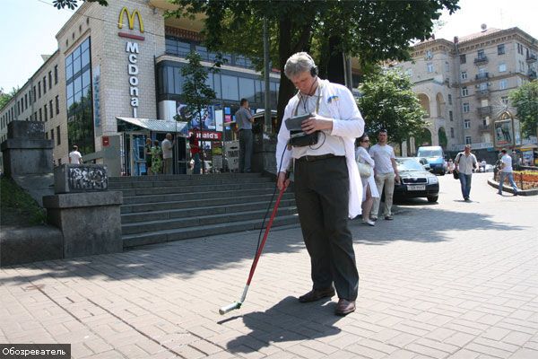
[[[355,311],[359,290],[348,216],[360,215],[362,184],[354,142],[364,131],[364,120],[352,93],[341,84],[319,79],[306,52],[292,55],[284,74],[299,92],[288,102],[278,134],[277,185],[286,188],[286,171],[293,161],[295,200],[313,282],[299,302],[330,298],[335,287],[339,301],[334,313],[346,315]],[[317,144],[295,143],[288,151],[291,134],[284,121],[306,114],[312,115],[302,120],[301,129],[317,136]]]

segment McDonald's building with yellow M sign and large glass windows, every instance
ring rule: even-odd
[[[111,175],[129,172],[125,161],[117,162],[133,150],[125,132],[118,131],[117,118],[173,121],[183,106],[180,70],[187,54],[197,51],[207,67],[216,56],[202,45],[202,19],[165,19],[170,6],[165,0],[82,4],[56,34],[56,52],[0,109],[0,142],[9,122],[42,121],[54,140],[55,165],[68,162],[70,148],[77,144],[85,162],[108,164]],[[251,109],[264,108],[261,74],[240,54],[224,58],[226,65],[208,78],[216,92],[206,114],[213,118],[205,127],[209,132],[218,129],[215,113],[230,121],[241,98]],[[270,77],[275,109],[280,74]],[[110,157],[111,137],[118,137],[119,146]],[[143,138],[136,141],[143,143]]]

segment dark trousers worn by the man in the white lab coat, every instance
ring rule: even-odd
[[[349,178],[345,157],[295,162],[295,200],[310,255],[314,289],[333,285],[354,301],[359,289],[353,239],[348,228]]]

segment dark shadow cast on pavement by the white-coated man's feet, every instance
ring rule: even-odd
[[[283,348],[295,344],[290,342],[334,336],[341,331],[334,323],[342,319],[334,315],[335,306],[330,301],[299,303],[288,296],[267,311],[242,316],[252,332],[231,340],[227,348],[231,353],[264,353],[268,346]]]

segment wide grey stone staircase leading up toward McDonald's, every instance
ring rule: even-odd
[[[274,181],[257,173],[112,177],[121,190],[124,249],[220,233],[259,230]],[[274,196],[274,201],[278,192]],[[270,212],[265,220],[269,221]],[[282,196],[273,226],[299,223],[293,192]]]

